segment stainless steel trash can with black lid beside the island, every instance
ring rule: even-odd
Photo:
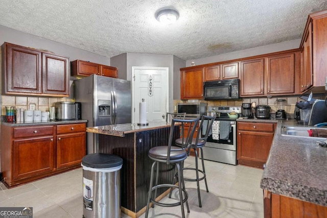
[[[111,154],[83,157],[83,217],[121,217],[121,176],[123,159]]]

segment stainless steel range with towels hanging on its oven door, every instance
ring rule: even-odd
[[[204,159],[237,165],[236,115],[230,118],[228,113],[235,112],[241,116],[241,106],[208,107],[208,111],[212,110],[219,112],[220,116],[215,119],[212,134],[203,148]]]

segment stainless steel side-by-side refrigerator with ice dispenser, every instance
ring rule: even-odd
[[[75,101],[87,127],[131,123],[131,82],[92,75],[74,81]],[[98,152],[98,134],[87,133],[87,154]]]

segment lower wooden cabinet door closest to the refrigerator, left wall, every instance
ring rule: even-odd
[[[81,164],[86,155],[86,132],[57,135],[57,168]]]

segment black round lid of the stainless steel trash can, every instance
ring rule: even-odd
[[[82,164],[92,168],[110,168],[122,165],[123,159],[113,154],[95,153],[84,156]]]

